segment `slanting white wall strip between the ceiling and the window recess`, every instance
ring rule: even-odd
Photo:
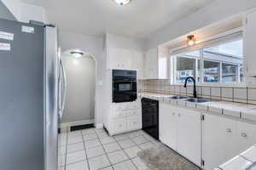
[[[171,41],[190,31],[195,31],[254,7],[256,7],[256,1],[253,0],[215,0],[194,14],[154,32],[146,39],[146,48],[154,48],[163,42]]]

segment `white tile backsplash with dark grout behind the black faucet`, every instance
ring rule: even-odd
[[[193,95],[193,86],[171,85],[169,80],[140,80],[138,91],[159,94]],[[197,86],[198,97],[256,105],[256,88]]]

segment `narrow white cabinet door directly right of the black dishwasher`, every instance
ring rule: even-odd
[[[161,102],[160,107],[160,141],[172,150],[177,150],[177,113],[175,107]]]

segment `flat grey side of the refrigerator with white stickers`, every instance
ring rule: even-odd
[[[0,169],[44,170],[44,27],[0,31]]]

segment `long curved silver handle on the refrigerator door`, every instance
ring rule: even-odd
[[[67,77],[66,77],[66,72],[65,72],[65,67],[63,65],[63,61],[60,59],[60,64],[61,64],[61,72],[63,76],[63,99],[61,100],[61,74],[59,77],[59,115],[62,117],[63,111],[65,109],[66,105],[66,99],[67,99]]]

